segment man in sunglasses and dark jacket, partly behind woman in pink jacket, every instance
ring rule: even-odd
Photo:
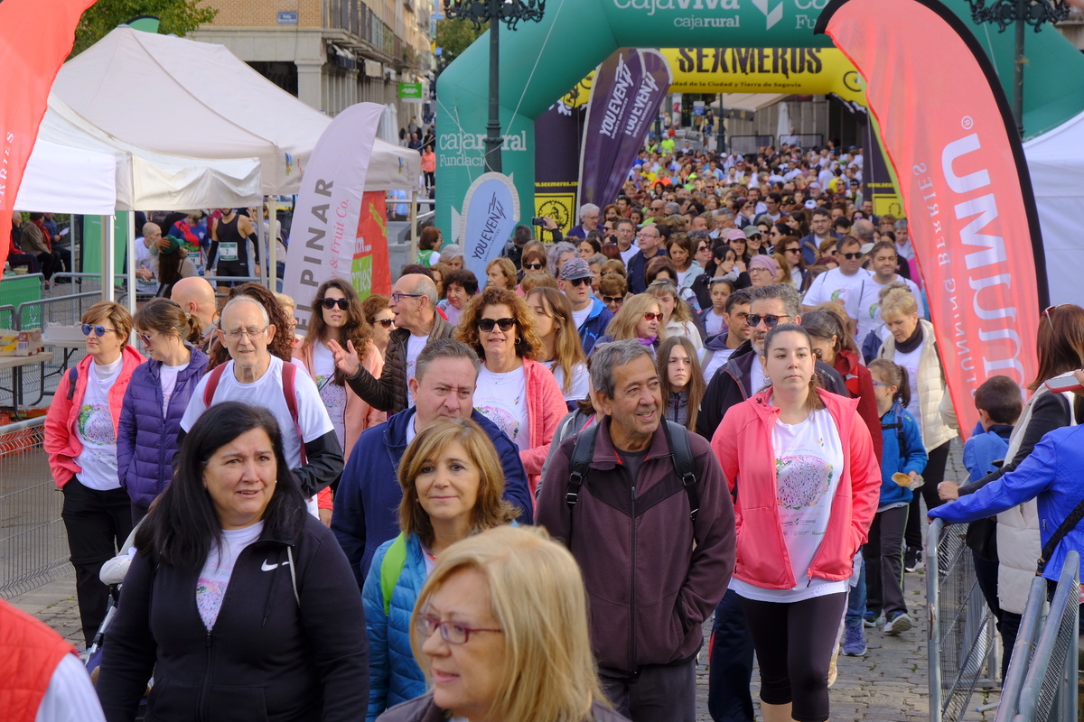
[[[801,323],[801,297],[790,286],[759,288],[752,292],[746,321],[752,329],[750,339],[734,350],[730,359],[715,371],[700,403],[696,432],[705,438],[714,436],[723,416],[732,406],[764,388],[766,381],[760,362],[764,339],[779,324]],[[822,388],[849,396],[836,369],[820,360],[815,369]],[[737,493],[740,494],[740,489]],[[709,648],[708,710],[712,719],[753,719],[752,696],[749,694],[752,636],[738,596],[733,591],[727,590],[715,609]]]

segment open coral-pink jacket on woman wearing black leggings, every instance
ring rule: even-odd
[[[723,475],[737,497],[737,560],[734,576],[764,589],[793,589],[797,585],[783,538],[776,500],[775,450],[772,428],[779,409],[770,405],[771,390],[731,408],[711,439]],[[831,502],[828,528],[809,575],[831,581],[851,576],[852,557],[866,542],[880,500],[880,468],[874,458],[869,431],[855,408],[857,401],[821,389],[843,445],[843,472]]]

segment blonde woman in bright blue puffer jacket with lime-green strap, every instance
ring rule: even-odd
[[[511,523],[496,449],[469,419],[425,426],[399,465],[401,533],[376,550],[362,591],[369,636],[369,713],[425,693],[411,651],[411,614],[437,554],[473,534]]]

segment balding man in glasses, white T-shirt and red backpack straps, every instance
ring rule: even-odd
[[[218,338],[230,360],[199,380],[181,418],[177,444],[208,406],[229,401],[263,406],[279,422],[286,463],[301,494],[315,497],[343,473],[343,448],[317,384],[308,373],[297,372],[297,366],[268,352],[275,331],[256,299],[238,296],[225,304]],[[286,397],[289,392],[292,399]],[[315,514],[314,499],[311,511]]]

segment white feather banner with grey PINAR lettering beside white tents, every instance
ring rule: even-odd
[[[308,328],[317,287],[350,280],[361,216],[361,194],[384,106],[358,103],[338,114],[320,136],[294,208],[283,291],[297,302],[297,330]]]

